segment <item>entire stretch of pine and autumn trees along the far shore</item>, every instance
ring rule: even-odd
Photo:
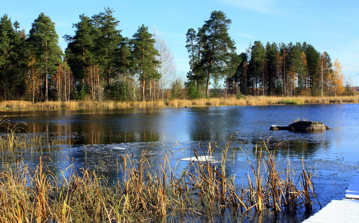
[[[144,24],[123,37],[114,10],[79,16],[62,51],[55,23],[44,13],[28,34],[5,14],[0,20],[0,100],[69,101],[197,99],[353,94],[338,59],[306,42],[261,41],[238,54],[231,20],[213,11],[184,33],[190,70],[177,74],[174,56],[156,29]]]

